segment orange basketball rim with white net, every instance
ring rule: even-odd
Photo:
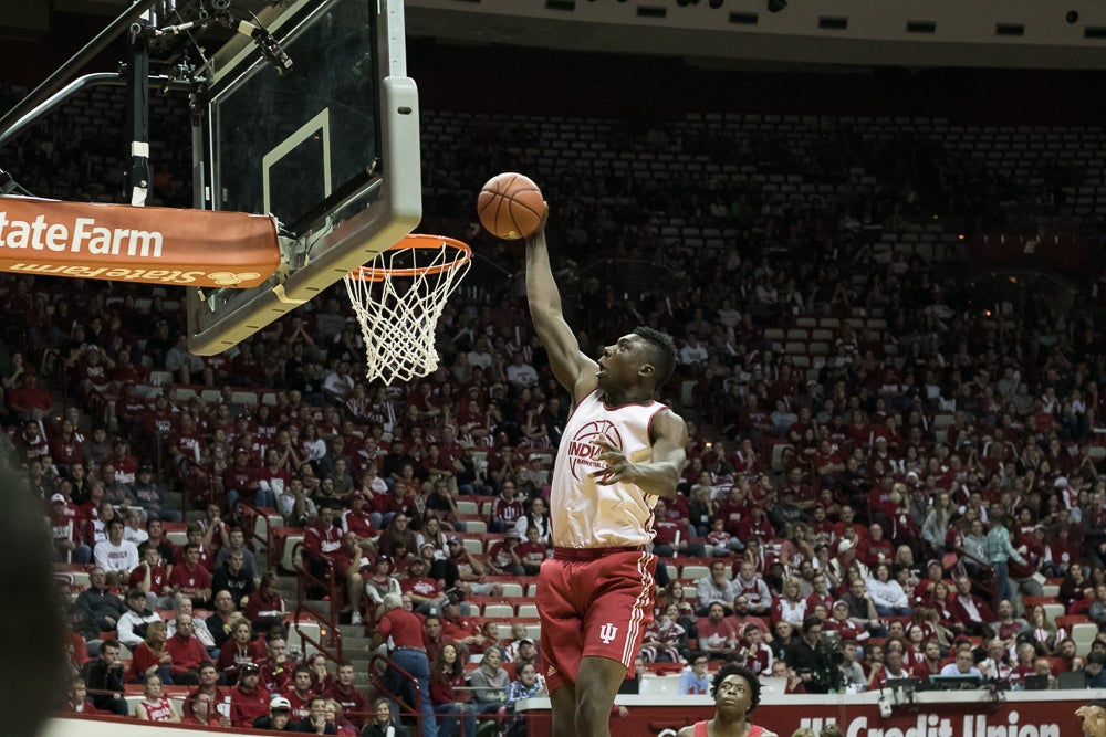
[[[411,234],[345,275],[365,338],[365,377],[390,385],[438,368],[434,329],[472,257],[467,244]]]

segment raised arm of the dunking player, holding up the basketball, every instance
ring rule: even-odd
[[[553,281],[549,249],[545,245],[545,220],[526,238],[526,299],[538,337],[550,357],[553,375],[573,399],[580,401],[595,389],[598,365],[580,351],[576,335],[564,320],[561,293]]]

